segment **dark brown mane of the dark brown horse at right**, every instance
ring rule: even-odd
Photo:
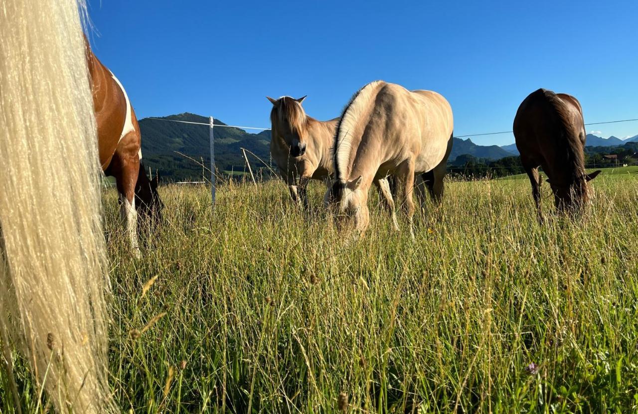
[[[553,107],[554,112],[558,115],[558,129],[560,137],[565,144],[567,150],[567,165],[571,166],[572,179],[577,181],[579,177],[585,174],[585,160],[582,153],[582,144],[579,135],[582,131],[582,124],[574,124],[572,114],[568,107],[568,103],[560,98],[555,92],[547,89],[539,89],[545,101]]]

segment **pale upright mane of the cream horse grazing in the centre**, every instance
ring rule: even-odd
[[[373,100],[378,91],[378,87],[385,84],[383,80],[375,80],[364,85],[355,92],[348,101],[348,105],[343,108],[341,118],[337,124],[334,134],[334,172],[338,181],[348,179],[346,169],[352,160],[352,150],[355,137],[352,134],[369,107],[368,103]]]

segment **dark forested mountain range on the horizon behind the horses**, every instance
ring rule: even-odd
[[[205,125],[188,124],[185,121],[200,122]],[[158,171],[168,181],[201,181],[202,177],[209,177],[211,150],[209,144],[208,118],[202,115],[184,114],[168,115],[159,119],[140,119],[142,132],[142,154],[144,154],[145,168]],[[226,127],[225,123],[215,119],[215,165],[218,172],[224,174],[243,174],[246,172],[246,161],[241,149],[253,152],[249,154],[249,161],[253,172],[263,168],[267,174],[270,166],[270,142],[271,131],[260,133],[248,133],[244,129]],[[606,147],[622,145],[625,142],[638,142],[638,135],[628,140],[620,140],[616,137],[600,138],[595,135],[587,135],[587,145]],[[470,138],[462,139],[454,137],[452,153],[449,161],[461,155],[471,155],[475,158],[496,160],[518,155],[516,144],[504,145],[477,145]],[[205,166],[205,168],[202,167]]]

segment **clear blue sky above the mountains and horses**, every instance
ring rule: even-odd
[[[308,95],[306,112],[330,119],[376,79],[443,94],[455,135],[510,130],[538,87],[576,96],[585,122],[638,118],[635,0],[89,3],[94,52],[140,118],[269,127],[266,95]],[[638,122],[590,131],[633,136]]]

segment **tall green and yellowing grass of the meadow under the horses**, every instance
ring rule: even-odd
[[[638,410],[637,184],[600,175],[584,221],[540,227],[528,182],[450,182],[415,244],[378,206],[346,244],[280,182],[223,186],[214,213],[209,189],[165,186],[141,260],[109,190],[115,400],[135,413]],[[19,372],[33,412],[38,388]]]

